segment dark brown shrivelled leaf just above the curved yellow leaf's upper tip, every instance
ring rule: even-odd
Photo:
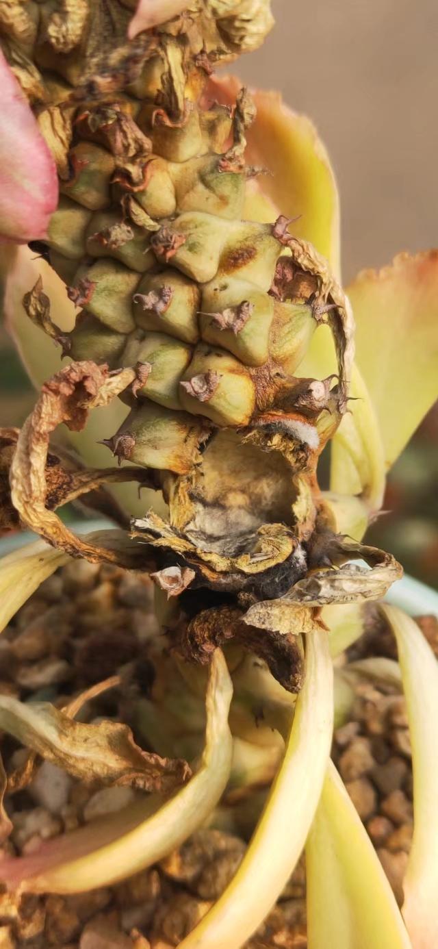
[[[180,645],[185,659],[206,665],[215,648],[228,640],[242,643],[264,660],[274,678],[288,692],[300,691],[303,658],[298,636],[250,625],[235,607],[213,606],[202,610],[184,630]]]

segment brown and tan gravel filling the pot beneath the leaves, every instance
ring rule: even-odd
[[[429,624],[429,641],[438,640]],[[133,700],[154,680],[151,650],[166,645],[147,578],[76,561],[59,570],[19,611],[0,638],[0,692],[62,706],[95,682],[120,673],[125,687],[101,695],[86,720],[131,720]],[[393,655],[385,630],[370,623],[352,658]],[[402,901],[412,833],[411,746],[404,699],[396,687],[354,682],[350,720],[335,733],[333,757],[356,809]],[[91,707],[92,704],[92,707]],[[83,719],[82,719],[83,720]],[[8,773],[24,752],[0,737]],[[130,788],[89,788],[45,762],[25,790],[9,794],[13,830],[3,852],[29,854],[42,840],[126,806]],[[160,865],[111,888],[74,897],[0,891],[0,949],[167,949],[177,946],[222,892],[246,843],[205,828]],[[2,850],[0,848],[0,854]],[[305,949],[305,870],[297,867],[250,949]]]

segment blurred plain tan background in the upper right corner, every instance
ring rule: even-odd
[[[240,61],[317,125],[341,195],[344,280],[438,246],[436,0],[273,0],[276,27]]]

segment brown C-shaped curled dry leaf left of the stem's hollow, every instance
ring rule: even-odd
[[[106,531],[100,532],[99,545],[93,544],[91,538],[82,540],[54,512],[47,510],[46,461],[48,439],[58,425],[64,422],[72,431],[81,431],[90,409],[107,405],[135,379],[135,369],[110,373],[107,366],[88,361],[66,366],[43,385],[40,398],[20,432],[10,466],[12,504],[28,528],[72,556],[82,555],[93,562],[120,567],[133,566],[133,557],[135,561],[141,560],[141,551],[127,536],[113,535],[112,539]],[[84,472],[82,480],[86,490],[96,487],[96,472]],[[110,480],[118,480],[112,469]],[[79,484],[75,496],[81,493],[78,487]]]

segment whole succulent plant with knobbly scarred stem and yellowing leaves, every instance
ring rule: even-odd
[[[0,222],[9,240],[32,241],[30,251],[9,244],[5,254],[5,310],[33,377],[52,376],[21,432],[7,430],[0,441],[0,523],[21,522],[51,545],[2,565],[2,623],[69,556],[148,571],[173,650],[163,682],[173,701],[186,691],[206,695],[206,745],[191,780],[161,808],[148,799],[134,820],[121,814],[109,822],[95,845],[78,832],[64,854],[48,847],[4,862],[0,874],[30,890],[68,892],[165,856],[208,818],[227,785],[230,703],[230,724],[252,741],[257,704],[267,729],[283,738],[283,760],[235,879],[183,945],[243,945],[310,831],[313,949],[330,940],[353,949],[374,936],[376,949],[429,949],[418,933],[435,932],[431,904],[417,919],[410,893],[431,872],[429,853],[418,853],[433,847],[436,854],[437,835],[412,850],[408,936],[329,755],[332,657],[360,635],[363,601],[380,599],[401,575],[391,554],[361,541],[389,464],[433,399],[436,254],[400,257],[391,269],[357,278],[350,293],[357,366],[352,308],[338,275],[335,183],[316,133],[272,94],[211,75],[263,41],[272,26],[268,0],[142,0],[133,17],[135,6],[50,0],[0,10],[8,94],[0,181],[11,175],[14,137],[19,144]],[[46,259],[31,261],[35,251]],[[41,345],[35,327],[46,332]],[[63,369],[53,340],[71,361]],[[415,391],[409,403],[408,390]],[[119,465],[131,465],[98,468],[89,438],[76,444],[92,468],[49,444],[63,422],[82,432],[95,409],[100,440]],[[103,431],[115,416],[115,429]],[[331,485],[321,491],[317,469],[329,442]],[[91,490],[101,500],[103,483],[130,480],[159,490],[167,507],[148,511],[142,495],[129,535],[77,536],[55,513]],[[120,523],[122,512],[112,513]],[[432,707],[433,657],[413,624],[385,608],[408,696],[424,676]],[[420,673],[411,662],[419,636]],[[248,656],[258,657],[259,672]],[[168,701],[160,699],[158,715],[166,716]],[[432,739],[410,702],[421,771]],[[133,751],[118,732],[117,762],[105,762],[116,741],[111,729],[90,726],[81,739],[67,711],[64,718],[53,708],[25,712],[14,700],[0,703],[2,728],[73,773],[86,773],[74,752],[83,740],[102,781],[168,794],[170,782],[174,788],[190,775],[172,735],[163,742],[154,727],[155,754]],[[183,727],[184,714],[181,701]],[[323,866],[351,883],[335,927]]]

